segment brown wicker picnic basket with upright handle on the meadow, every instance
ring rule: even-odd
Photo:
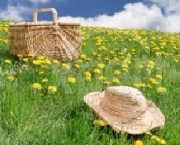
[[[39,12],[52,12],[53,22],[38,22]],[[81,42],[80,24],[58,22],[54,8],[35,9],[33,22],[10,24],[9,27],[9,48],[13,55],[74,60],[79,57]]]

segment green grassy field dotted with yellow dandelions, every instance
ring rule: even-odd
[[[179,145],[180,34],[82,27],[72,62],[12,56],[0,22],[0,144]],[[141,90],[161,109],[165,127],[141,136],[115,133],[83,96],[112,85]]]

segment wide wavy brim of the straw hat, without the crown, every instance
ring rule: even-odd
[[[156,105],[147,101],[148,108],[137,118],[124,120],[123,116],[118,116],[112,112],[106,111],[101,105],[101,101],[105,92],[93,92],[84,96],[84,102],[92,108],[95,113],[108,124],[116,132],[127,132],[129,134],[143,134],[148,130],[162,128],[165,123],[165,117]]]

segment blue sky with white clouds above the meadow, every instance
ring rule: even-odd
[[[59,21],[86,26],[180,31],[180,0],[5,0],[0,19],[31,21],[35,8],[53,7]],[[50,13],[39,20],[50,20]]]

